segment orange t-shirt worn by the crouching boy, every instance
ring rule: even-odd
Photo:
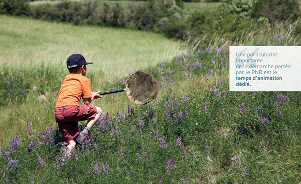
[[[55,108],[79,105],[81,97],[92,98],[90,80],[80,74],[69,74],[62,80]]]

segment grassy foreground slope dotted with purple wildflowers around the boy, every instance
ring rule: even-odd
[[[300,46],[299,25],[264,26],[235,41],[202,37],[185,54],[129,69],[146,71],[162,84],[157,99],[144,106],[132,104],[124,94],[94,101],[106,108],[93,127],[91,144],[77,146],[70,158],[52,114],[57,82],[65,73],[45,65],[18,69],[22,77],[8,85],[48,82],[20,95],[20,102],[2,106],[7,110],[1,117],[22,118],[14,127],[22,133],[6,134],[9,141],[0,147],[1,182],[301,182],[301,93],[230,92],[228,67],[230,45]],[[12,65],[5,69],[15,72]],[[127,76],[106,79],[100,87],[121,88]],[[98,78],[94,72],[88,77]],[[48,93],[47,99],[37,99],[39,92]]]

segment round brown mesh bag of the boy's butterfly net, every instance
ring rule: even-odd
[[[135,104],[144,105],[155,100],[161,90],[158,81],[148,73],[136,71],[126,80],[126,95]]]

